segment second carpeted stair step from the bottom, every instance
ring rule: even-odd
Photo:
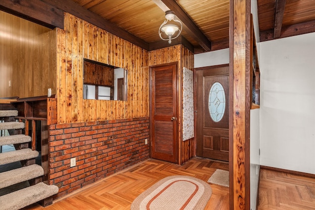
[[[2,172],[0,174],[0,189],[22,181],[32,180],[43,175],[44,169],[36,164]]]

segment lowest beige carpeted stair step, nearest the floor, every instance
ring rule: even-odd
[[[47,185],[43,182],[2,195],[0,197],[1,210],[19,210],[45,198],[57,194],[58,186]]]

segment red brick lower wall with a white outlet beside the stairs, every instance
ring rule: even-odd
[[[49,184],[59,187],[54,198],[149,158],[146,138],[149,118],[50,125]]]

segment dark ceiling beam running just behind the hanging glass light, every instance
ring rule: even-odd
[[[170,10],[175,12],[176,16],[183,23],[183,29],[187,31],[189,35],[193,39],[195,39],[203,49],[205,49],[205,51],[211,51],[211,42],[209,41],[209,39],[194,24],[194,22],[189,18],[186,12],[176,3],[175,0],[160,0],[160,1],[164,3],[165,6],[168,7]],[[156,4],[158,5],[157,2]]]

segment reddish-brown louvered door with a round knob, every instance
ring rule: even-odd
[[[151,67],[151,155],[152,158],[176,162],[177,64]]]

